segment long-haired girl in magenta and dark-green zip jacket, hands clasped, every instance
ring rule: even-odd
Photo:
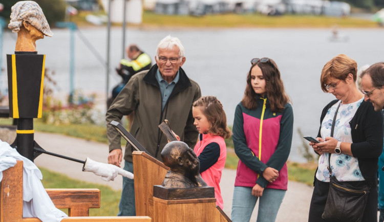
[[[288,184],[292,106],[276,63],[254,58],[251,64],[233,120],[234,151],[240,159],[232,199],[233,222],[249,221],[258,198],[257,221],[275,221]]]

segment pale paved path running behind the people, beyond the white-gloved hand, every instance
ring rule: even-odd
[[[57,134],[47,134],[35,132],[35,141],[45,150],[69,156],[79,160],[92,160],[106,163],[108,156],[108,145],[73,137]],[[74,179],[88,181],[97,184],[108,185],[115,190],[121,190],[121,176],[116,177],[115,181],[105,182],[91,172],[82,172],[82,164],[68,161],[65,159],[41,154],[35,159],[37,166],[48,168],[52,171],[60,172]],[[230,217],[232,206],[232,193],[236,170],[224,169],[220,183],[224,201],[224,212]],[[43,178],[44,180],[44,178]],[[289,181],[288,191],[280,207],[276,221],[308,221],[308,210],[313,188],[297,182]],[[251,221],[256,221],[257,208],[255,208]]]

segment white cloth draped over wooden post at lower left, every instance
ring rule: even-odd
[[[37,217],[42,222],[61,221],[67,214],[57,209],[41,184],[42,174],[29,159],[21,156],[8,143],[0,140],[0,182],[3,171],[13,167],[16,160],[23,164],[23,217]]]

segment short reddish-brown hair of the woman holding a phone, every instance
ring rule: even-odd
[[[325,63],[323,67],[322,75],[320,77],[322,90],[328,93],[327,87],[325,85],[330,78],[345,80],[350,73],[353,76],[353,81],[356,82],[357,63],[355,60],[344,54],[333,57],[331,60]]]

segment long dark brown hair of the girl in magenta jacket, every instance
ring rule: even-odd
[[[244,96],[241,103],[247,109],[257,108],[257,101],[260,95],[254,92],[251,83],[251,71],[254,66],[259,66],[263,73],[265,79],[265,91],[272,112],[282,112],[284,105],[290,100],[284,90],[284,84],[280,76],[278,65],[272,59],[269,59],[267,62],[258,61],[251,65],[247,75],[247,85],[245,86]]]

